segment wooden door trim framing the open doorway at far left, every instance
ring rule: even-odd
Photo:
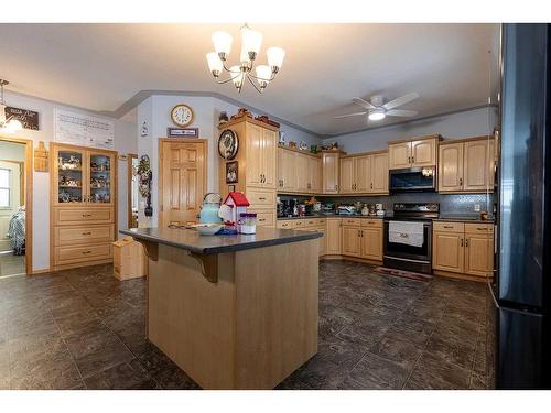
[[[6,135],[0,135],[0,141],[25,145],[25,272],[26,275],[31,275],[33,273],[33,141]]]

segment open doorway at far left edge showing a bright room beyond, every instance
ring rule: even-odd
[[[0,137],[0,278],[32,273],[32,141]]]

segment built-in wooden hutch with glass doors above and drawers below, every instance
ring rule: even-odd
[[[51,143],[53,270],[112,261],[117,235],[117,152]]]

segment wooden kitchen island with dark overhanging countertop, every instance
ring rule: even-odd
[[[121,230],[149,257],[148,338],[204,389],[272,389],[317,352],[320,232]]]

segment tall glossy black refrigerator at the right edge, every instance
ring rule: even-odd
[[[549,389],[551,28],[504,24],[488,385]]]

